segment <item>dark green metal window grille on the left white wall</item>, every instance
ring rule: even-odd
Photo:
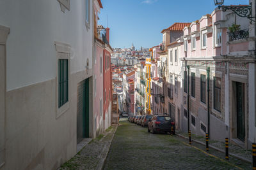
[[[68,102],[68,59],[59,59],[59,108]]]

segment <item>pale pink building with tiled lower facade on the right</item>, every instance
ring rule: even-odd
[[[250,80],[254,80],[250,70],[255,69],[255,59],[248,39],[250,22],[235,15],[216,8],[185,27],[178,40],[183,42],[182,129],[200,135],[208,132],[220,141],[228,137],[248,148],[253,142],[249,111],[254,104],[248,99],[255,86]]]

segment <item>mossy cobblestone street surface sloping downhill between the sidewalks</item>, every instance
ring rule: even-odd
[[[122,122],[113,138],[104,169],[252,169],[252,165],[170,134]]]

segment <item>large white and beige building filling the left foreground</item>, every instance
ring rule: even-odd
[[[1,170],[56,169],[92,137],[93,27],[92,0],[1,1]]]

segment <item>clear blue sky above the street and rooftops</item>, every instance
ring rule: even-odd
[[[213,0],[101,0],[99,24],[110,28],[113,48],[152,47],[161,43],[161,31],[175,22],[193,22],[216,6]],[[225,0],[248,4],[249,0]]]

